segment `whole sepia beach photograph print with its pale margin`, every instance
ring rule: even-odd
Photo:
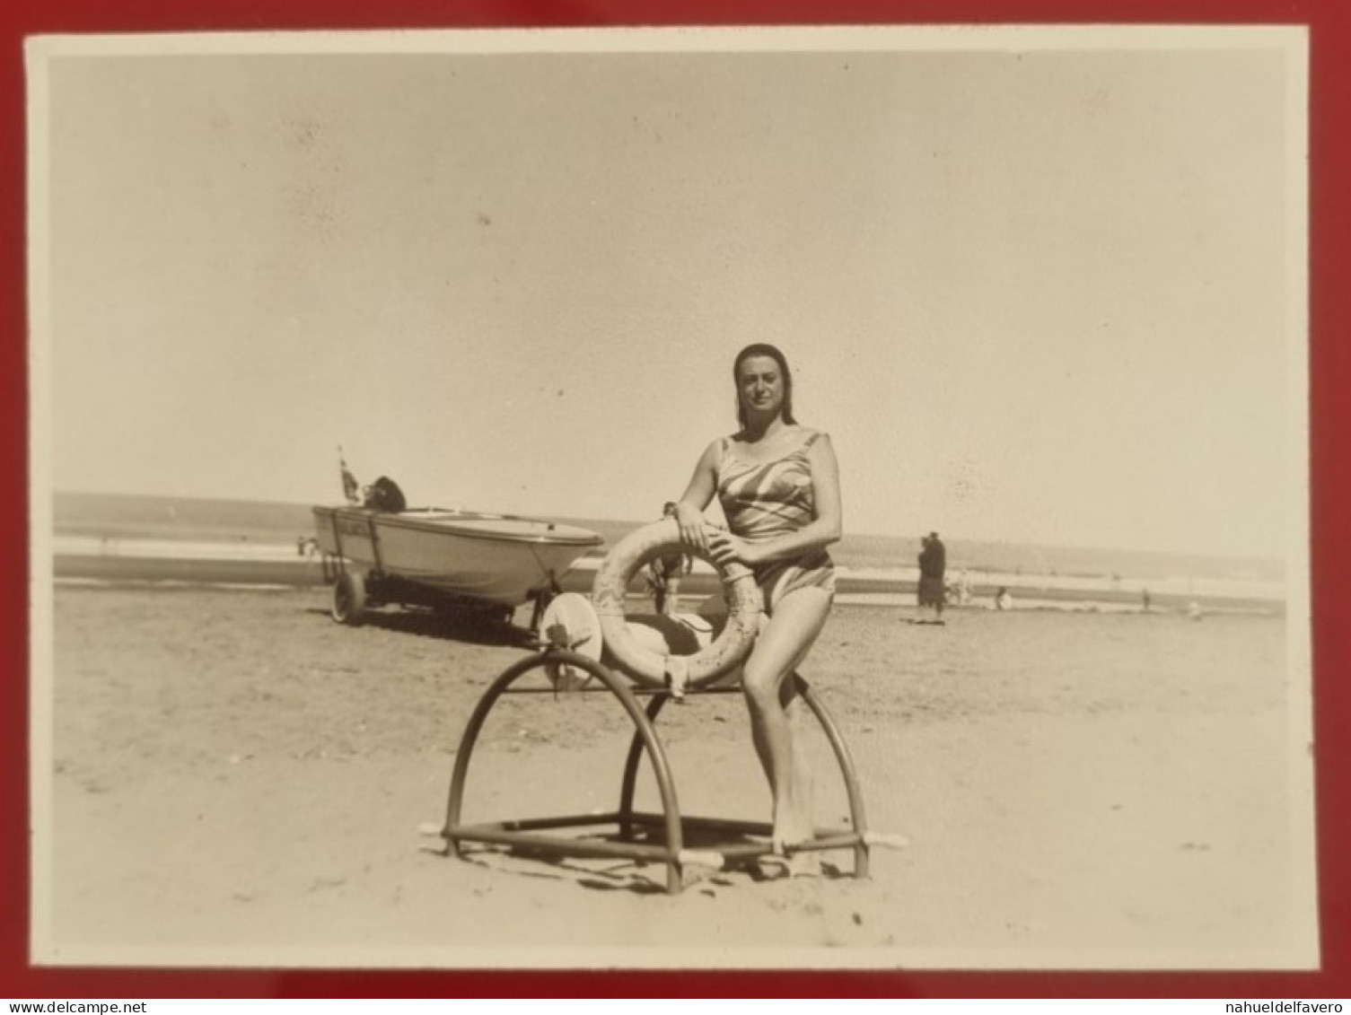
[[[1304,30],[26,57],[35,964],[1319,966]]]

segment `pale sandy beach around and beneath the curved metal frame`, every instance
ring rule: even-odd
[[[528,651],[323,591],[59,587],[35,958],[250,966],[1309,968],[1306,674],[1281,618],[838,605],[804,673],[877,849],[825,876],[424,849]],[[524,616],[523,616],[524,619]],[[661,719],[686,812],[767,818],[735,696]],[[819,734],[816,816],[847,814]],[[607,695],[494,710],[466,819],[612,808]],[[50,760],[50,783],[43,777]],[[650,781],[640,795],[653,800]]]

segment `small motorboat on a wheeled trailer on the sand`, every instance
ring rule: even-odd
[[[396,496],[378,496],[381,482]],[[598,533],[559,522],[408,508],[388,480],[370,489],[377,496],[362,504],[313,508],[339,623],[359,624],[369,607],[384,603],[469,610],[505,622],[534,601],[538,616],[573,562],[604,542]]]

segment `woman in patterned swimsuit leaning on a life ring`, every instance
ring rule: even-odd
[[[789,873],[811,873],[809,770],[793,735],[802,710],[793,673],[830,616],[835,565],[827,546],[842,533],[839,468],[830,437],[793,418],[793,376],[771,345],[755,343],[732,365],[740,428],[704,450],[676,505],[681,538],[719,565],[743,564],[763,595],[763,624],[742,669],[751,739],[773,796],[771,849]],[[717,496],[728,530],[704,519]]]

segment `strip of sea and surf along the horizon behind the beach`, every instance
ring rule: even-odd
[[[555,518],[600,533],[605,546],[644,520]],[[313,535],[309,504],[247,500],[57,493],[51,530],[58,558],[95,557],[297,562]],[[944,538],[948,578],[965,577],[975,597],[1005,585],[1024,600],[1098,600],[1158,605],[1201,601],[1269,605],[1285,599],[1278,560],[1139,550],[1039,546]],[[917,535],[846,534],[831,555],[851,592],[904,593],[917,578]],[[580,561],[593,569],[604,547]],[[707,572],[704,568],[697,570]],[[59,568],[58,568],[59,573]],[[709,576],[711,577],[711,576]],[[694,585],[707,584],[698,581]]]

